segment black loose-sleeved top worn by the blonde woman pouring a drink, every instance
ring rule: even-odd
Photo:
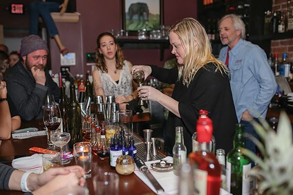
[[[221,148],[228,153],[232,149],[233,134],[237,117],[232,99],[230,82],[227,75],[222,75],[212,63],[201,68],[189,86],[184,86],[182,79],[178,81],[178,67],[167,70],[151,65],[151,76],[162,82],[175,83],[172,98],[179,101],[181,118],[169,112],[165,131],[165,145],[168,152],[175,143],[175,127],[183,126],[184,141],[188,154],[192,151],[191,137],[196,130],[199,110],[209,111],[213,121],[213,136],[216,149]]]

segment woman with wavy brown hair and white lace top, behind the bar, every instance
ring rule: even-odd
[[[115,96],[120,109],[126,109],[128,102],[137,98],[137,84],[130,73],[132,64],[124,59],[117,39],[112,34],[100,34],[97,46],[97,69],[93,71],[96,96]]]

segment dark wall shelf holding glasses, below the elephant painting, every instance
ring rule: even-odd
[[[160,49],[160,60],[164,59],[164,50],[169,49],[167,39],[117,39],[122,49]]]

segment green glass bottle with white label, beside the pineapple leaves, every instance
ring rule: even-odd
[[[250,195],[251,159],[240,153],[245,147],[244,126],[236,124],[233,149],[227,154],[226,173],[227,191],[233,195]]]

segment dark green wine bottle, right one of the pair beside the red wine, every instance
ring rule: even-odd
[[[70,102],[68,104],[67,116],[68,132],[71,135],[69,147],[72,148],[74,143],[83,141],[81,107],[76,101],[74,85],[70,85]]]

